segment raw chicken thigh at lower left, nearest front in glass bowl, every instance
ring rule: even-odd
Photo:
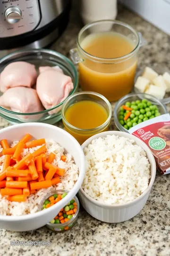
[[[18,113],[33,113],[43,110],[36,90],[26,87],[8,89],[0,97],[0,106],[9,107]]]

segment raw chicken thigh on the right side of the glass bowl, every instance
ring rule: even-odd
[[[72,89],[73,83],[71,77],[54,68],[40,73],[37,78],[36,90],[46,110],[64,101]],[[57,113],[59,110],[57,108],[50,111],[49,114]]]

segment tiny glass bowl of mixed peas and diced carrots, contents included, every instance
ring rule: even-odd
[[[67,190],[55,190],[47,194],[42,200],[41,210],[52,206],[62,200],[68,194]],[[54,202],[55,201],[55,202]],[[75,196],[59,213],[46,224],[48,229],[54,232],[64,232],[74,227],[78,218],[79,201]]]

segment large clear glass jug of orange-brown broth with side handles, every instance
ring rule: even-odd
[[[100,58],[84,50],[85,40],[96,35],[107,36],[110,32],[126,39],[131,43],[133,50],[117,58]],[[82,89],[98,92],[109,101],[118,101],[133,88],[137,53],[139,47],[144,44],[145,40],[141,34],[120,21],[100,20],[83,27],[77,37],[77,48],[70,50],[73,62],[79,65],[79,82]]]

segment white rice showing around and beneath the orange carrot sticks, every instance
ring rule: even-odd
[[[18,141],[14,141],[11,147],[15,146]],[[23,150],[22,156],[27,155],[29,152],[33,153],[41,146],[36,146],[32,148],[26,148]],[[0,215],[13,215],[20,216],[29,213],[34,213],[39,210],[39,205],[44,196],[47,193],[51,192],[53,189],[65,189],[71,190],[78,179],[78,167],[74,163],[72,155],[65,154],[67,159],[66,162],[60,160],[61,155],[64,155],[64,148],[57,144],[57,142],[50,140],[46,141],[47,152],[46,156],[50,155],[50,153],[54,153],[56,155],[52,165],[57,165],[59,168],[65,169],[65,175],[60,177],[61,183],[58,183],[55,186],[51,186],[47,189],[41,189],[37,191],[35,194],[32,194],[28,197],[25,202],[11,202],[6,199],[6,197],[2,197],[0,194]],[[2,148],[0,147],[0,152]],[[0,172],[3,168],[4,155],[0,157]]]

